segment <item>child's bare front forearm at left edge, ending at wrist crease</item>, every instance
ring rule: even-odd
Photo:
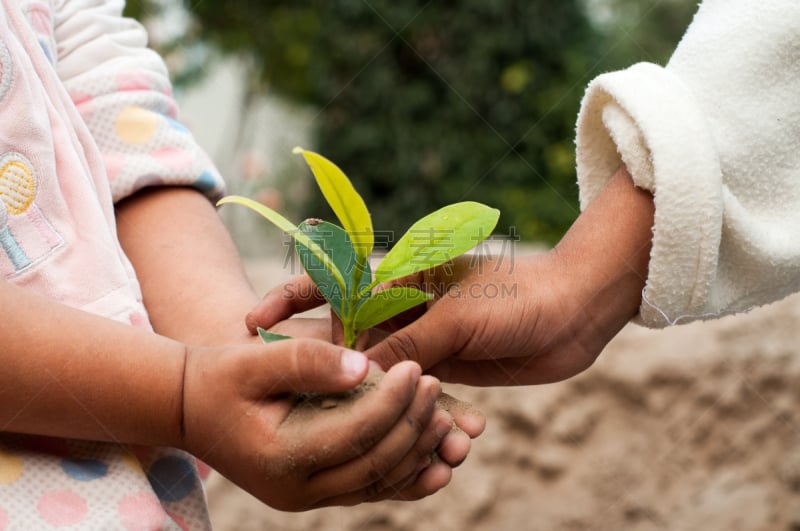
[[[0,280],[0,430],[180,441],[183,345]]]

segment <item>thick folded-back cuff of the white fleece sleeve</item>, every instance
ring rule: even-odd
[[[702,317],[722,227],[722,173],[692,93],[668,70],[640,63],[589,85],[577,125],[581,208],[625,164],[653,193],[650,266],[638,321],[665,327]]]

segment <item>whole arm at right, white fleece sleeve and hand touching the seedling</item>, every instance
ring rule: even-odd
[[[598,77],[578,120],[582,213],[564,240],[505,275],[434,272],[427,282],[444,275],[461,294],[495,283],[517,296],[445,295],[368,353],[451,381],[547,382],[586,368],[634,316],[668,326],[800,289],[798,39],[792,0],[707,0],[665,68]]]

